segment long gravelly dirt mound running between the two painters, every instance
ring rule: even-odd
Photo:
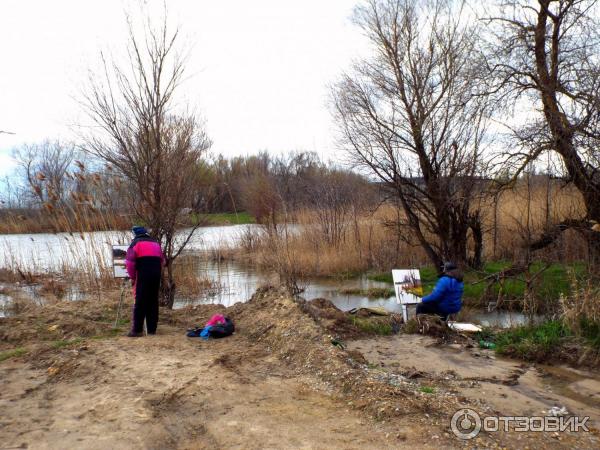
[[[233,319],[236,335],[255,343],[296,373],[316,374],[321,380],[321,389],[342,395],[351,406],[367,410],[378,418],[442,409],[442,405],[434,404],[435,399],[415,396],[413,391],[370,373],[360,352],[347,352],[343,343],[339,345],[335,336],[365,333],[353,326],[348,314],[326,299],[295,300],[285,288],[270,286],[257,290],[248,302],[226,309],[199,305],[193,310],[174,311],[171,323],[191,327],[203,323],[215,311]],[[390,320],[389,317],[380,319]],[[242,353],[238,356],[252,357],[249,349]],[[233,368],[236,361],[232,358],[236,356],[216,363]]]

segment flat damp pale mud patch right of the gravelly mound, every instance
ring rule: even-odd
[[[600,376],[596,373],[534,365],[496,357],[492,351],[440,346],[422,335],[396,335],[346,342],[369,363],[415,383],[437,386],[479,402],[501,415],[540,416],[552,407],[589,416],[600,424]]]

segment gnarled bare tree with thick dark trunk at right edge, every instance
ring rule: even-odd
[[[551,244],[560,231],[578,228],[590,257],[600,260],[600,24],[595,0],[510,0],[500,2],[488,52],[491,92],[511,105],[530,102],[512,131],[523,151],[512,152],[518,176],[545,152],[557,154],[581,192],[585,217],[555,224],[532,242]],[[508,95],[507,95],[508,94]]]

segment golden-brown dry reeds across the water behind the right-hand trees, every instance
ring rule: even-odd
[[[555,184],[548,190],[548,186],[541,183],[543,180],[544,177],[540,177],[531,188],[522,182],[496,196],[484,197],[481,208],[484,259],[515,263],[538,258],[586,259],[585,239],[575,231],[563,233],[554,246],[538,253],[528,250],[528,245],[545,232],[549,223],[585,214],[575,189]],[[318,214],[316,210],[300,211],[294,214],[293,224],[280,227],[278,232],[268,228],[248,231],[243,236],[242,248],[230,254],[296,276],[344,276],[428,264],[427,255],[410,230],[397,226],[402,213],[389,204],[373,212],[348,214],[341,238],[336,242],[326,239]],[[472,246],[470,241],[471,250]]]

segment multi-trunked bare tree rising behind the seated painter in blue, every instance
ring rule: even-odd
[[[472,89],[476,33],[456,3],[369,0],[357,8],[374,56],[333,95],[343,144],[402,206],[401,225],[437,267],[467,262],[468,231],[480,227],[474,199],[486,102]]]

